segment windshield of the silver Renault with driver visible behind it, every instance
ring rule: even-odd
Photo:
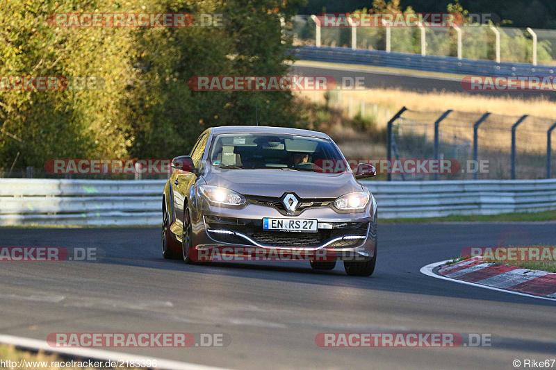
[[[286,169],[322,172],[323,160],[343,159],[332,141],[300,135],[227,133],[216,135],[211,165],[229,169]]]

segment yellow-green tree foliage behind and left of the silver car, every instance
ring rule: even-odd
[[[294,125],[290,92],[195,92],[191,76],[281,75],[304,0],[10,0],[0,76],[95,76],[90,90],[0,91],[0,169],[51,158],[171,158],[209,126]],[[60,12],[222,13],[224,27],[56,28]]]

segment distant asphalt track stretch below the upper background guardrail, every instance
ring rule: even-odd
[[[550,101],[556,101],[556,91],[468,91],[461,86],[461,78],[443,78],[425,76],[419,71],[414,74],[396,74],[395,72],[379,72],[360,69],[356,65],[345,67],[307,67],[302,65],[303,61],[291,67],[291,74],[301,76],[332,76],[336,81],[342,78],[363,77],[364,86],[368,89],[400,89],[415,92],[459,92],[461,94],[486,95],[486,96],[510,96],[514,99],[532,99],[544,96]],[[403,103],[403,102],[401,102]]]

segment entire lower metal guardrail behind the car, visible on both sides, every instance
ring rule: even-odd
[[[165,180],[0,179],[0,226],[158,225]],[[556,210],[556,180],[363,181],[379,217]]]

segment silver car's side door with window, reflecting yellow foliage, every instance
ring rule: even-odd
[[[208,131],[202,133],[197,140],[193,150],[190,153],[190,157],[193,160],[193,165],[195,168],[199,168],[201,163],[201,158],[203,156],[206,143],[208,142]],[[172,194],[174,194],[174,210],[175,217],[181,224],[183,222],[183,204],[188,198],[188,194],[195,181],[197,180],[197,175],[193,172],[182,171],[180,169],[174,169],[172,171],[172,176],[170,177],[170,187],[172,187]]]

